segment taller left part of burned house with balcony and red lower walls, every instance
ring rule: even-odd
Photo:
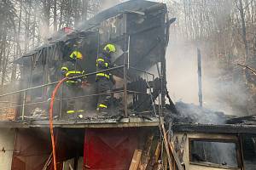
[[[20,90],[1,96],[18,96],[15,119],[1,122],[4,131],[15,136],[8,169],[50,169],[55,166],[54,156],[58,169],[128,169],[134,150],[142,150],[159,125],[166,96],[170,24],[164,3],[121,3],[71,32],[67,29],[64,34],[55,34],[17,59]],[[96,59],[106,43],[117,48],[109,69],[116,83],[109,92],[110,111],[98,115]],[[62,85],[53,106],[55,154],[49,138],[49,105],[56,84],[63,78],[61,65],[73,50],[84,56],[79,66],[88,85],[71,98],[83,101],[84,112],[73,119],[67,116],[65,107],[71,98]]]

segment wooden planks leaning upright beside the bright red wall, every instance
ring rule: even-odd
[[[160,139],[155,138],[156,136],[149,134],[143,150],[134,150],[129,170],[160,170],[165,167],[183,169],[183,147],[175,148],[172,136],[166,133],[162,119],[160,119],[160,132],[163,134],[162,143]],[[185,136],[183,140],[186,139]]]

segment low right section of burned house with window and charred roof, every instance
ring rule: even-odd
[[[172,131],[186,169],[255,169],[255,125],[177,123]]]

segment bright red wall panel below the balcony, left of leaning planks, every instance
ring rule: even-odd
[[[141,128],[97,128],[84,132],[84,166],[90,170],[126,170],[131,165],[133,152],[140,149]]]

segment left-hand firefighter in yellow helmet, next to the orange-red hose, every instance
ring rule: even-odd
[[[61,74],[64,77],[78,77],[85,74],[79,65],[80,60],[83,59],[83,54],[78,50],[74,50],[70,55],[69,59],[62,64]],[[66,98],[73,98],[81,96],[84,91],[82,88],[83,83],[85,82],[85,77],[79,77],[72,80],[67,80],[65,82],[65,87],[67,90],[64,92]],[[81,115],[83,110],[83,100],[82,99],[67,99],[66,111],[70,117],[76,118],[83,117]]]

